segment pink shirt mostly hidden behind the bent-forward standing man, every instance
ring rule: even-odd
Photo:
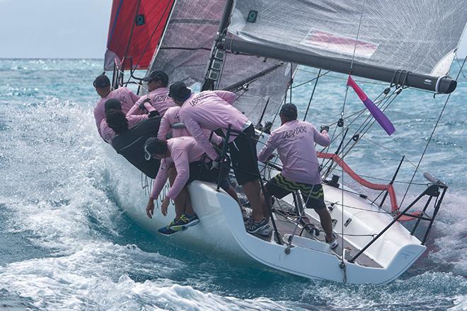
[[[190,131],[188,131],[186,127],[183,127],[180,129],[172,128],[173,124],[177,124],[177,123],[183,124],[182,120],[180,119],[180,113],[179,113],[180,109],[181,108],[178,106],[168,108],[166,113],[161,118],[161,126],[159,127],[159,131],[157,134],[158,139],[166,140],[168,131],[170,130],[172,130],[172,138],[182,137],[182,136],[192,136]],[[183,126],[185,125],[183,124]],[[204,134],[206,134],[208,137],[211,136],[211,131],[209,131],[209,129],[203,129],[202,131],[204,131]],[[211,141],[213,143],[219,144],[222,142],[222,138],[217,136],[217,134],[214,132],[212,132],[211,137],[212,137]]]

